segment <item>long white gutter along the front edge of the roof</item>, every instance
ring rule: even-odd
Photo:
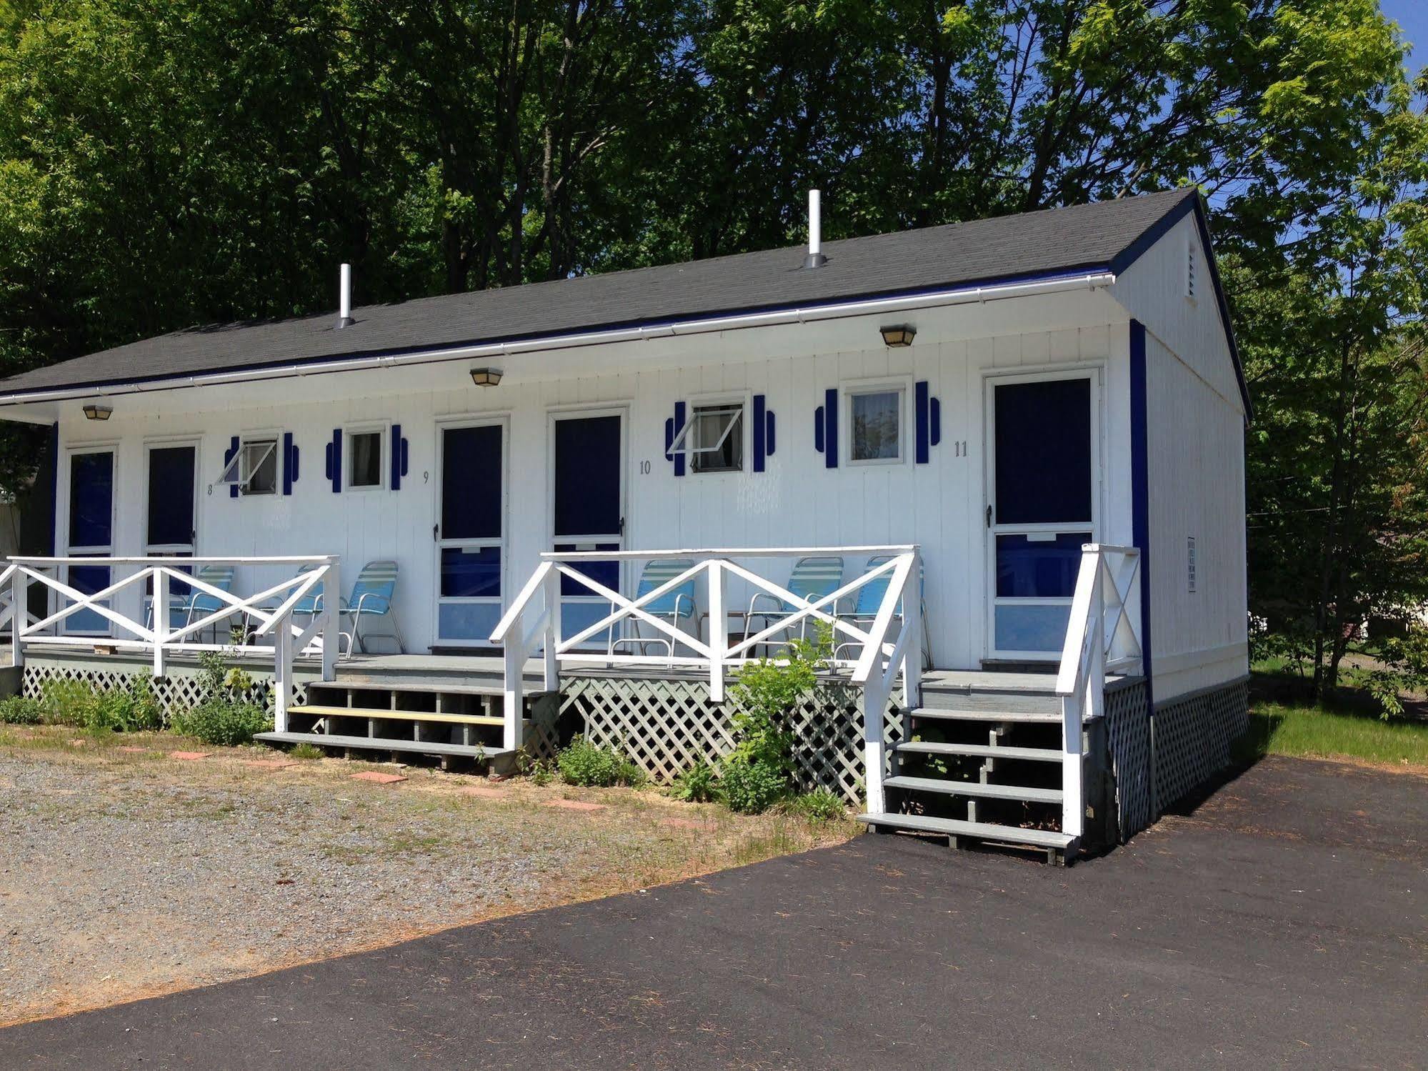
[[[1095,271],[1084,276],[1064,276],[1032,283],[1005,283],[988,287],[967,287],[961,290],[937,290],[904,297],[868,298],[837,304],[810,306],[805,308],[777,308],[768,313],[745,313],[741,316],[720,316],[704,320],[681,320],[650,327],[624,327],[613,331],[585,331],[557,334],[545,338],[526,338],[514,343],[488,343],[484,346],[458,346],[443,350],[418,350],[374,357],[346,357],[328,361],[307,361],[281,364],[267,368],[241,368],[236,371],[214,371],[198,376],[174,376],[151,383],[116,383],[99,387],[64,387],[49,391],[0,394],[0,406],[24,406],[40,401],[67,401],[74,398],[103,398],[119,394],[141,394],[160,390],[183,390],[224,383],[254,383],[260,380],[291,378],[296,376],[321,376],[336,371],[360,371],[366,368],[396,367],[404,364],[437,364],[441,361],[471,360],[473,357],[507,357],[540,350],[568,350],[581,346],[607,346],[610,343],[643,341],[645,338],[667,338],[713,331],[734,331],[748,327],[775,327],[780,324],[817,323],[820,320],[843,320],[851,316],[873,316],[877,313],[904,313],[917,308],[941,306],[981,304],[1011,297],[1032,297],[1057,294],[1070,290],[1100,290],[1115,284],[1111,271]]]

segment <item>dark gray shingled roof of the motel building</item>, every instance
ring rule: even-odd
[[[0,380],[0,394],[164,380],[213,371],[513,341],[860,297],[1121,270],[1178,218],[1191,188],[824,243],[447,294],[336,314],[193,327]],[[360,287],[360,280],[357,281]]]

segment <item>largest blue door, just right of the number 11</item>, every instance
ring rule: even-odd
[[[1081,544],[1095,540],[1098,376],[994,378],[988,390],[988,648],[1050,660],[1065,643]]]

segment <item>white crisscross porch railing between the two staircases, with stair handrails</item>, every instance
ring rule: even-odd
[[[868,571],[840,585],[835,591],[814,600],[795,595],[783,584],[758,575],[740,564],[740,560],[793,561],[804,557],[871,557],[885,555],[887,560]],[[643,595],[630,598],[593,577],[581,573],[578,565],[585,561],[653,561],[693,560],[688,568],[670,580],[653,587]],[[580,628],[561,640],[561,581],[570,580],[607,603],[610,611],[598,621]],[[635,580],[631,577],[631,581]],[[665,598],[670,593],[685,587],[690,581],[703,581],[705,588],[708,638],[677,627],[647,607]],[[764,593],[778,605],[793,607],[791,613],[760,613],[758,618],[770,621],[767,627],[754,631],[745,618],[744,635],[731,638],[728,631],[728,584],[741,583],[748,593]],[[871,623],[863,617],[850,620],[841,613],[844,603],[857,597],[865,585],[880,581],[887,588],[878,601]],[[540,610],[536,608],[540,597]],[[568,598],[568,595],[567,595]],[[901,613],[898,611],[901,603]],[[565,665],[610,665],[628,668],[654,667],[698,667],[708,673],[710,698],[724,701],[724,681],[730,668],[737,668],[753,658],[753,651],[761,645],[780,643],[778,637],[791,635],[805,621],[821,621],[833,630],[835,644],[848,644],[858,651],[857,658],[833,660],[834,668],[851,670],[854,684],[863,687],[864,695],[864,758],[867,763],[867,790],[870,810],[883,810],[883,767],[884,767],[884,717],[898,674],[902,675],[904,700],[917,705],[921,695],[922,673],[922,593],[918,548],[912,545],[894,547],[778,547],[778,548],[733,548],[733,550],[643,550],[643,551],[574,551],[541,554],[541,564],[526,581],[520,594],[501,617],[491,643],[501,644],[506,654],[506,734],[504,745],[521,745],[521,713],[526,660],[543,653],[545,691],[560,688],[560,667]],[[900,627],[894,620],[900,618]],[[698,621],[700,617],[695,617]],[[618,633],[625,623],[638,623],[653,630],[661,645],[668,643],[667,655],[625,654],[623,651],[581,650],[593,637]],[[637,627],[638,627],[637,625]]]

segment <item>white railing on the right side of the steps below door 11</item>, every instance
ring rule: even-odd
[[[1085,824],[1081,731],[1105,710],[1108,673],[1141,673],[1141,553],[1087,543],[1061,650],[1061,831],[1080,840]]]

